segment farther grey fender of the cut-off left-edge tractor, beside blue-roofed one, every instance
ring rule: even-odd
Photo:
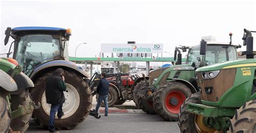
[[[18,86],[18,90],[11,92],[11,94],[19,94],[25,88],[34,87],[32,80],[23,72],[19,73],[18,75],[15,75],[13,78]]]

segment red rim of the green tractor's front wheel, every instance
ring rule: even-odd
[[[171,91],[166,95],[165,106],[169,112],[178,114],[186,96],[180,91]]]

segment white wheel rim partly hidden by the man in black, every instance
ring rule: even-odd
[[[77,92],[75,87],[66,83],[66,91],[64,92],[65,102],[62,107],[62,110],[64,112],[62,119],[65,119],[73,115],[78,109],[79,103],[80,103],[79,93]],[[45,92],[42,95],[42,107],[44,109],[44,112],[50,115],[51,105],[46,103]],[[56,114],[56,117],[57,117],[57,114]]]

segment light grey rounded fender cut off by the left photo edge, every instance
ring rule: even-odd
[[[0,69],[0,87],[4,88],[4,90],[12,92],[17,91],[18,87],[15,83],[15,80],[12,79],[7,73]]]

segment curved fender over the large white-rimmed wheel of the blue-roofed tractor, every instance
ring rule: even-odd
[[[37,77],[42,75],[43,73],[49,72],[57,68],[71,69],[73,72],[75,72],[78,75],[81,75],[82,77],[85,77],[85,78],[90,77],[85,71],[78,69],[75,63],[71,61],[65,61],[65,60],[55,60],[55,61],[50,61],[50,62],[41,64],[32,71],[29,77],[32,80],[37,79]]]

